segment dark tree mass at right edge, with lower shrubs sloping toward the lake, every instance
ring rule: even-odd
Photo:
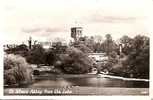
[[[149,78],[149,38],[138,35],[128,42],[123,48],[126,55],[116,65],[120,67],[114,67],[113,71],[126,77]]]

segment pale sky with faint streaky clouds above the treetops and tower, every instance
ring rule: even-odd
[[[152,0],[3,0],[0,3],[4,43],[60,37],[69,41],[70,28],[83,35],[149,36]]]

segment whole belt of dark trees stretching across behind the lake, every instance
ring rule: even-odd
[[[69,46],[62,46],[61,43],[56,43],[48,50],[39,44],[29,50],[28,46],[22,44],[5,52],[21,55],[30,64],[53,65],[63,73],[87,73],[96,66],[100,71],[107,69],[115,75],[149,78],[150,45],[147,36],[131,38],[125,35],[117,42],[106,34],[105,39],[101,36],[85,36],[77,42],[70,42]],[[95,65],[93,59],[88,57],[88,53],[92,52],[105,52],[109,58],[107,63]]]

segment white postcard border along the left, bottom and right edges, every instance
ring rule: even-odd
[[[5,1],[5,0],[4,0]],[[1,9],[0,9],[1,11]],[[150,8],[152,13],[153,7]],[[3,26],[3,18],[0,18],[0,28]],[[153,15],[150,16],[147,25],[150,30],[150,95],[149,96],[3,96],[3,32],[0,30],[0,99],[60,99],[60,100],[78,100],[78,99],[121,99],[121,100],[151,100],[153,99]]]

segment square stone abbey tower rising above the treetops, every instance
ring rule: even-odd
[[[78,41],[80,37],[82,37],[82,27],[72,27],[71,28],[71,37],[74,39],[74,41]]]

